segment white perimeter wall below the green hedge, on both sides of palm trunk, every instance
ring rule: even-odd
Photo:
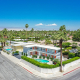
[[[37,67],[23,59],[21,59],[21,62],[25,63],[26,65],[28,65],[29,67],[41,72],[41,73],[56,73],[56,72],[59,72],[60,71],[60,67],[57,67],[57,68],[52,68],[52,69],[47,69],[47,68],[40,68],[40,67]],[[76,60],[76,61],[73,61],[71,63],[68,63],[66,64],[64,67],[63,67],[63,71],[65,71],[67,68],[71,67],[71,66],[74,66],[74,65],[77,65],[78,63],[80,62],[80,59]]]

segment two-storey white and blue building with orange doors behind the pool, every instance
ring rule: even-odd
[[[23,53],[28,56],[38,55],[38,56],[49,56],[52,58],[60,59],[60,48],[51,47],[45,45],[27,45],[23,47]]]

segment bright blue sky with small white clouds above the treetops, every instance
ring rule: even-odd
[[[80,0],[0,0],[0,29],[80,28]]]

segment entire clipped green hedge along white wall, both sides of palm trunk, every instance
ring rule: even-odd
[[[23,60],[28,61],[28,62],[30,62],[30,63],[38,66],[38,67],[41,67],[41,68],[56,68],[56,67],[60,66],[60,63],[58,63],[56,65],[49,65],[49,64],[46,64],[46,63],[40,63],[40,62],[38,62],[38,61],[36,61],[34,59],[31,59],[31,58],[28,58],[26,56],[21,56],[21,58]],[[70,63],[70,62],[78,60],[78,59],[80,59],[80,57],[71,58],[71,59],[69,59],[67,61],[63,61],[62,64],[67,64],[67,63]]]

